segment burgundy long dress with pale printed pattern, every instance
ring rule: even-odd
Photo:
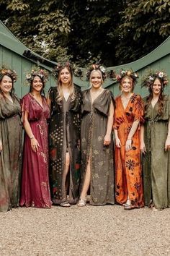
[[[31,148],[30,137],[24,132],[22,189],[19,205],[50,208],[52,202],[50,200],[48,179],[47,124],[47,119],[50,117],[50,109],[44,97],[42,97],[42,106],[40,106],[29,93],[22,98],[22,111],[28,112],[30,127],[40,148],[35,153]]]

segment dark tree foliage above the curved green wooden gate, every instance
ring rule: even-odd
[[[81,66],[148,54],[170,34],[169,8],[169,0],[0,1],[1,20],[28,48]]]

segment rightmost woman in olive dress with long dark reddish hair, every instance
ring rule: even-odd
[[[144,98],[146,122],[141,129],[144,200],[153,210],[170,206],[170,101],[164,95],[167,83],[166,74],[160,71],[151,70],[143,78],[143,86],[149,90]]]

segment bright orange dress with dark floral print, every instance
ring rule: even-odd
[[[133,207],[143,207],[143,183],[140,165],[140,128],[132,138],[132,149],[125,151],[128,134],[135,120],[143,122],[143,101],[140,95],[130,97],[124,108],[121,96],[115,99],[114,129],[121,142],[121,148],[115,147],[115,197],[121,205],[130,199]],[[139,126],[140,127],[140,126]]]

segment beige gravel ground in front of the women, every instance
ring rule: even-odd
[[[170,209],[13,209],[0,213],[0,255],[170,255]]]

